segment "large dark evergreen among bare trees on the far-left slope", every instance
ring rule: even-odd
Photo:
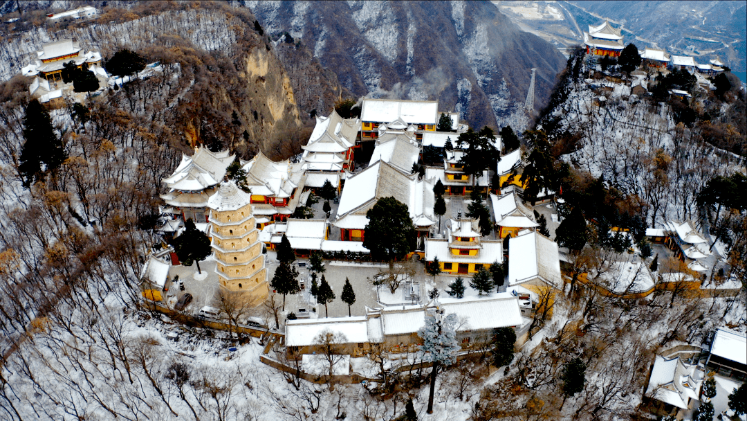
[[[25,111],[23,137],[26,141],[21,148],[18,170],[23,185],[28,188],[43,179],[42,165],[46,165],[48,171],[55,170],[65,161],[67,153],[55,133],[49,113],[40,102],[32,99]]]

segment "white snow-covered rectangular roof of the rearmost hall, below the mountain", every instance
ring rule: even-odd
[[[390,123],[398,118],[408,124],[436,124],[438,123],[438,101],[363,99],[362,121]]]

